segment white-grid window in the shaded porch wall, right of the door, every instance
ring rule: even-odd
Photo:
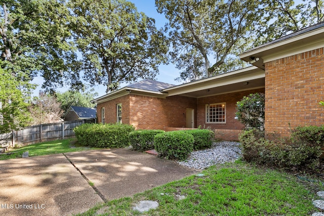
[[[219,110],[220,107],[217,105],[221,105],[222,110]],[[215,106],[214,110],[211,110],[211,106]],[[223,113],[219,113],[223,112]],[[213,113],[213,114],[211,114]],[[215,116],[211,118],[211,116]],[[217,116],[222,116],[221,118],[217,118]],[[211,121],[211,119],[215,119],[215,121]],[[217,121],[218,119],[218,121]],[[221,121],[220,121],[221,120]],[[226,124],[226,103],[213,103],[213,104],[206,104],[205,106],[205,123],[207,124]]]

